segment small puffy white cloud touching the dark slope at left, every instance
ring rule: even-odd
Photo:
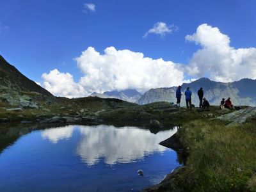
[[[56,96],[82,97],[86,95],[83,86],[75,83],[73,76],[69,73],[61,73],[57,69],[51,70],[49,74],[42,74],[44,88]]]

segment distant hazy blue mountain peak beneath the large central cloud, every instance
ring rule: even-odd
[[[100,97],[100,98],[115,98],[115,99],[122,99],[128,102],[136,102],[138,101],[142,94],[139,93],[137,90],[122,90],[120,92],[113,91],[113,92],[104,92],[104,93],[92,93],[93,97]]]

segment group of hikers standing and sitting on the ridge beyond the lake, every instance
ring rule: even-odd
[[[191,92],[191,90],[189,90],[189,87],[186,89],[184,94],[185,94],[187,109],[192,109],[192,107],[195,107],[193,104],[191,104],[192,92]],[[178,88],[176,90],[177,108],[180,108],[181,95],[182,95],[181,86],[178,86]],[[206,100],[204,98],[204,91],[203,91],[202,87],[198,90],[197,95],[199,98],[199,108],[209,109],[210,104],[209,104],[208,100]],[[220,102],[220,109],[225,109],[225,108],[236,110],[230,100],[230,97],[228,97],[227,100],[225,100],[225,98],[223,98]]]

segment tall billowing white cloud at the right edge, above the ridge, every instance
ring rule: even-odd
[[[214,81],[237,81],[244,77],[256,78],[256,49],[230,46],[230,38],[220,29],[201,24],[186,40],[202,48],[193,54],[188,73],[195,77],[207,76]]]

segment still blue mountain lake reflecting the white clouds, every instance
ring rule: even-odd
[[[33,131],[0,154],[0,191],[138,191],[179,166],[176,152],[158,144],[176,131],[111,125]]]

